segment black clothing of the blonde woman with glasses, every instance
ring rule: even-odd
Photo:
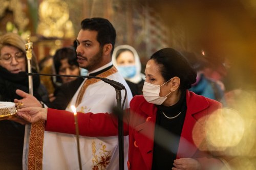
[[[0,66],[0,101],[13,102],[21,99],[16,89],[29,92],[28,77],[12,74]],[[33,92],[38,100],[48,102],[47,90],[33,77]],[[22,169],[25,125],[10,120],[0,121],[0,169]]]

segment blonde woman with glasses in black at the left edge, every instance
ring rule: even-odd
[[[14,33],[0,37],[0,101],[20,99],[16,89],[29,92],[28,78],[18,75],[19,71],[27,71],[25,43]],[[35,56],[32,57],[32,71],[37,71]],[[48,94],[39,77],[33,77],[33,87],[34,96],[47,102]],[[24,125],[11,120],[0,121],[0,169],[22,169],[24,132]]]

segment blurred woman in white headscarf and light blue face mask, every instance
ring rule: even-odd
[[[141,73],[141,62],[134,47],[130,45],[115,47],[112,62],[129,85],[133,96],[142,94],[145,75]]]

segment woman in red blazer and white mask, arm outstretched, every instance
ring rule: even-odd
[[[205,137],[207,117],[221,108],[217,101],[188,91],[196,71],[173,48],[163,48],[146,64],[143,95],[135,96],[124,114],[129,135],[129,169],[221,169],[224,163],[211,152]],[[46,130],[75,134],[68,111],[29,107],[18,115]],[[80,135],[117,135],[117,119],[109,113],[78,113]]]

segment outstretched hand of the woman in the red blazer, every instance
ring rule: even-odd
[[[18,109],[16,114],[30,123],[47,119],[47,109],[40,107],[26,107]]]

